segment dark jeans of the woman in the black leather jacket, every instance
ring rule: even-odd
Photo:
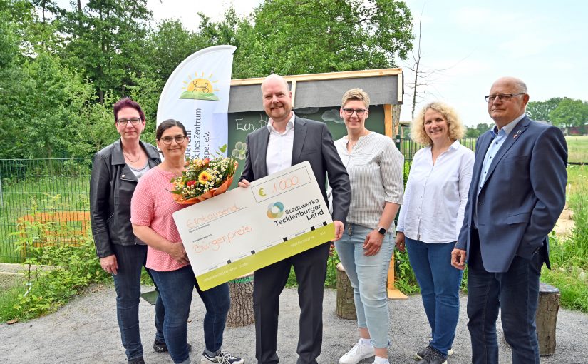
[[[116,290],[116,318],[120,339],[128,360],[143,356],[143,345],[139,333],[139,298],[141,294],[141,267],[147,260],[147,246],[120,246],[113,244],[118,263],[114,278]],[[150,271],[145,268],[148,273]],[[152,278],[153,279],[153,278]],[[155,303],[155,338],[163,340],[163,301],[158,296]]]

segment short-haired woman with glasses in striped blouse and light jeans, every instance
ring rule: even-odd
[[[375,355],[373,363],[387,364],[386,275],[394,248],[393,220],[402,203],[404,158],[391,138],[366,129],[367,93],[351,89],[341,105],[347,136],[335,146],[349,173],[351,204],[335,247],[354,288],[361,338],[339,363],[356,364]]]

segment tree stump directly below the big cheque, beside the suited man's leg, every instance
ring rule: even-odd
[[[253,273],[229,281],[231,308],[227,314],[227,326],[237,328],[255,322],[253,312]]]

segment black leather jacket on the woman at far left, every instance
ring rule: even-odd
[[[147,153],[149,167],[161,163],[157,148],[139,141]],[[90,218],[98,258],[114,254],[112,244],[140,243],[130,224],[130,198],[137,177],[125,163],[120,139],[96,153],[90,177]]]

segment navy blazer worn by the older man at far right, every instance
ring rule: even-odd
[[[455,248],[469,251],[477,211],[486,271],[506,272],[515,256],[531,259],[535,253],[550,267],[547,236],[565,204],[567,144],[563,133],[555,126],[522,118],[490,163],[478,193],[490,143],[490,131],[476,143],[470,194]]]

